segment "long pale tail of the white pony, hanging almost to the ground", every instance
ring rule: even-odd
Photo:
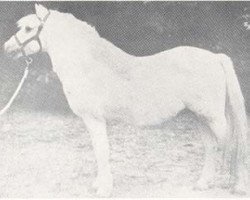
[[[234,175],[237,182],[247,182],[246,154],[247,154],[247,116],[245,111],[244,97],[241,92],[240,84],[237,79],[231,59],[219,54],[220,62],[226,76],[227,88],[227,111],[231,122],[231,133],[233,150],[231,158],[231,175]],[[244,172],[246,174],[244,174]],[[240,173],[240,174],[239,174]],[[240,177],[239,177],[240,176]],[[245,176],[245,177],[244,177]]]

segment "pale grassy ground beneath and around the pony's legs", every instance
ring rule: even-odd
[[[0,197],[95,196],[91,183],[96,161],[79,118],[14,112],[0,122]],[[189,114],[158,130],[136,132],[126,124],[109,125],[113,197],[233,197],[225,189],[228,166],[220,167],[220,153],[215,187],[192,190],[204,150]]]

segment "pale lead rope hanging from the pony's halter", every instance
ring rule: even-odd
[[[14,94],[12,95],[12,97],[10,98],[10,100],[8,101],[8,103],[5,105],[5,107],[0,110],[0,116],[3,115],[8,109],[9,107],[12,105],[13,101],[15,100],[15,98],[17,97],[20,89],[22,88],[23,86],[23,83],[25,81],[25,79],[27,78],[28,74],[29,74],[29,66],[30,64],[32,63],[32,58],[30,57],[27,57],[25,59],[25,62],[26,62],[26,67],[25,67],[25,70],[24,70],[24,73],[23,73],[23,77],[20,81],[20,83],[18,84],[17,88],[16,88],[16,91],[14,92]]]

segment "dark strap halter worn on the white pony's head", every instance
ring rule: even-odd
[[[20,51],[21,51],[21,53],[22,53],[22,55],[24,57],[27,57],[24,48],[26,47],[27,44],[29,44],[33,40],[37,41],[37,43],[39,44],[39,52],[42,51],[42,43],[41,43],[41,40],[39,38],[39,35],[40,35],[40,33],[41,33],[42,29],[43,29],[44,23],[47,21],[47,19],[49,17],[49,15],[50,15],[50,11],[48,12],[48,14],[43,19],[41,19],[40,17],[37,16],[37,18],[39,19],[41,24],[38,26],[38,30],[37,30],[36,34],[33,37],[29,38],[28,40],[26,40],[24,42],[20,42],[17,35],[16,34],[14,35],[16,43],[20,47]]]

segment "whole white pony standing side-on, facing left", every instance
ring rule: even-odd
[[[147,127],[161,124],[184,108],[210,130],[201,132],[206,157],[195,188],[211,186],[217,145],[225,146],[233,138],[233,191],[245,193],[247,122],[229,57],[194,47],[135,57],[71,14],[42,5],[35,8],[36,14],[18,21],[20,30],[5,43],[5,51],[14,58],[40,50],[49,54],[72,111],[91,134],[98,164],[94,182],[98,195],[109,196],[113,188],[107,120]]]

